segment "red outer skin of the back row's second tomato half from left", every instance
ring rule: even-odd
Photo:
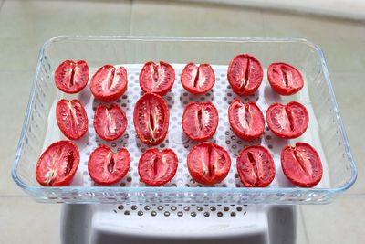
[[[98,71],[96,71],[94,73],[94,75],[91,77],[91,81],[90,81],[90,90],[91,90],[91,93],[92,95],[99,101],[106,101],[106,102],[109,102],[109,101],[116,101],[118,100],[121,95],[123,95],[127,89],[128,89],[128,75],[127,75],[127,70],[120,66],[118,69],[118,71],[120,71],[122,73],[122,76],[123,78],[125,78],[124,80],[122,80],[122,85],[120,87],[119,90],[116,90],[115,92],[113,92],[112,94],[110,95],[105,95],[105,94],[101,94],[98,92],[98,90],[96,89],[96,83],[97,83],[97,80],[96,80],[96,77],[98,75],[98,73],[100,72],[101,69],[111,69],[111,68],[114,68],[116,69],[114,66],[110,65],[110,64],[107,64],[107,65],[104,65],[102,67],[100,67],[98,69]]]

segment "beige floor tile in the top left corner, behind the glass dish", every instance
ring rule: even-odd
[[[0,33],[0,70],[35,69],[48,38],[129,35],[130,1],[6,1]]]

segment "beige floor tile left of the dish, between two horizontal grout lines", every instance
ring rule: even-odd
[[[11,165],[26,114],[33,72],[0,72],[0,196],[24,195],[11,178]],[[6,104],[6,105],[5,105]]]

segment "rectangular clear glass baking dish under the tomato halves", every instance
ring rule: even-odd
[[[237,96],[226,80],[226,70],[230,59],[238,53],[249,53],[258,58],[265,74],[268,65],[274,61],[288,62],[302,72],[305,86],[295,96],[284,98],[277,95],[271,90],[265,75],[255,95],[241,97],[242,101],[255,101],[264,114],[267,107],[275,101],[287,103],[295,100],[303,103],[308,109],[309,126],[301,137],[283,140],[266,127],[261,138],[245,142],[231,131],[227,110],[229,102]],[[122,65],[127,69],[129,87],[116,102],[126,112],[128,127],[119,140],[109,143],[95,134],[92,119],[99,101],[94,101],[89,87],[76,95],[67,95],[57,90],[53,80],[54,69],[65,59],[86,60],[90,76],[107,63]],[[176,71],[172,90],[164,96],[171,112],[169,133],[157,147],[172,148],[178,155],[179,166],[172,181],[163,187],[144,186],[140,181],[138,160],[148,146],[136,137],[132,122],[134,104],[142,94],[139,73],[143,63],[150,60],[170,62]],[[185,63],[190,61],[213,65],[216,81],[214,89],[207,94],[196,96],[183,90],[180,73]],[[80,150],[81,161],[71,186],[43,187],[35,179],[37,158],[50,143],[66,139],[57,127],[55,116],[56,103],[61,98],[78,98],[85,105],[89,116],[89,132],[75,142]],[[184,135],[181,119],[183,109],[190,101],[212,101],[219,111],[218,130],[209,141],[224,146],[233,164],[224,181],[215,186],[195,183],[187,170],[186,156],[196,143]],[[324,175],[314,188],[292,186],[282,172],[281,148],[297,141],[312,144],[321,157]],[[102,143],[115,151],[120,147],[126,147],[130,151],[129,173],[115,186],[96,186],[89,177],[89,154]],[[269,187],[245,188],[238,178],[236,155],[243,147],[251,144],[264,145],[274,156],[276,178]],[[36,200],[68,203],[315,204],[329,202],[333,196],[349,188],[356,179],[356,168],[339,119],[328,71],[318,47],[298,39],[248,38],[56,37],[49,40],[38,59],[26,122],[12,173],[16,184]]]

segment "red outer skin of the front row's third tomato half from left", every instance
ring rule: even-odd
[[[146,154],[149,154],[149,153],[159,154],[160,157],[162,157],[162,154],[171,154],[172,155],[173,164],[171,165],[172,166],[171,174],[167,175],[167,177],[165,179],[153,181],[153,180],[149,179],[148,177],[146,177],[145,175],[143,175],[143,169],[142,169],[143,156],[145,156]],[[138,174],[140,175],[141,181],[144,184],[146,184],[147,186],[162,186],[162,185],[165,185],[166,183],[170,182],[172,180],[172,178],[176,175],[178,164],[179,164],[179,159],[178,159],[177,155],[175,154],[175,152],[173,152],[172,149],[165,148],[160,152],[156,148],[149,148],[143,154],[141,154],[141,158],[140,158],[140,161],[138,164]]]

